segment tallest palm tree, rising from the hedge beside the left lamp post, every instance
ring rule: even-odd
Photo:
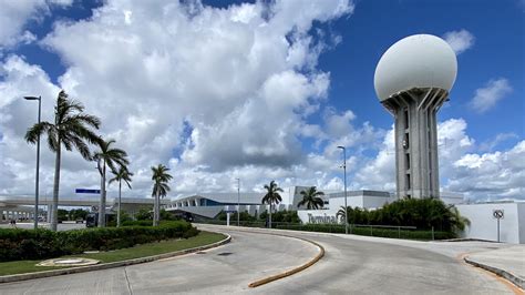
[[[99,118],[83,113],[82,103],[69,100],[68,94],[62,90],[56,98],[54,106],[54,122],[43,121],[34,124],[25,133],[25,141],[37,143],[42,134],[48,135],[49,149],[55,153],[54,160],[54,183],[53,201],[51,203],[51,231],[56,231],[59,210],[59,187],[60,187],[60,165],[62,145],[66,151],[74,149],[85,160],[91,160],[91,152],[86,142],[96,143],[99,136],[93,129],[99,129],[101,122]]]

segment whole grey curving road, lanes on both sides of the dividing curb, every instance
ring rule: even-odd
[[[512,294],[497,278],[455,258],[461,246],[303,233],[287,234],[320,243],[325,257],[301,273],[248,288],[250,282],[305,263],[317,247],[290,237],[205,228],[228,232],[233,241],[203,254],[2,284],[0,293]]]

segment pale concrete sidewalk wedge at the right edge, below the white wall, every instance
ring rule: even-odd
[[[525,289],[525,245],[470,254],[465,262],[496,273]]]

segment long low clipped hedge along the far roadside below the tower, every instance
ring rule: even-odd
[[[306,232],[321,232],[321,233],[344,233],[343,225],[326,225],[326,224],[305,224],[305,225],[277,225],[280,230],[292,230],[292,231],[306,231]],[[432,240],[431,231],[418,231],[418,230],[394,230],[394,228],[378,228],[373,227],[351,227],[351,233],[357,235],[371,235],[380,237],[394,237],[394,238],[410,238],[410,240]],[[451,232],[434,232],[434,240],[446,240],[456,237]]]

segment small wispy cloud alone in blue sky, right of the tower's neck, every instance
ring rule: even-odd
[[[511,83],[505,78],[490,80],[484,88],[476,90],[476,94],[471,100],[471,108],[484,113],[494,108],[498,101],[512,92]]]

